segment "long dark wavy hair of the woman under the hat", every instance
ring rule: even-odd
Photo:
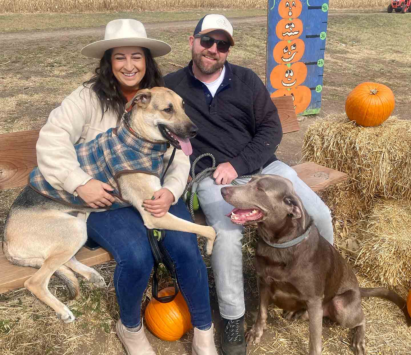
[[[164,86],[161,70],[152,57],[150,50],[145,47],[142,48],[145,55],[145,75],[140,82],[139,88],[150,89],[155,86]],[[112,53],[113,49],[108,49],[104,52],[100,60],[100,65],[94,71],[94,76],[90,80],[83,82],[83,85],[91,84],[91,89],[99,98],[100,107],[102,108],[102,118],[104,112],[112,110],[116,113],[118,117],[117,124],[119,124],[127,100],[122,94],[118,80],[115,78],[113,70],[111,69]]]

